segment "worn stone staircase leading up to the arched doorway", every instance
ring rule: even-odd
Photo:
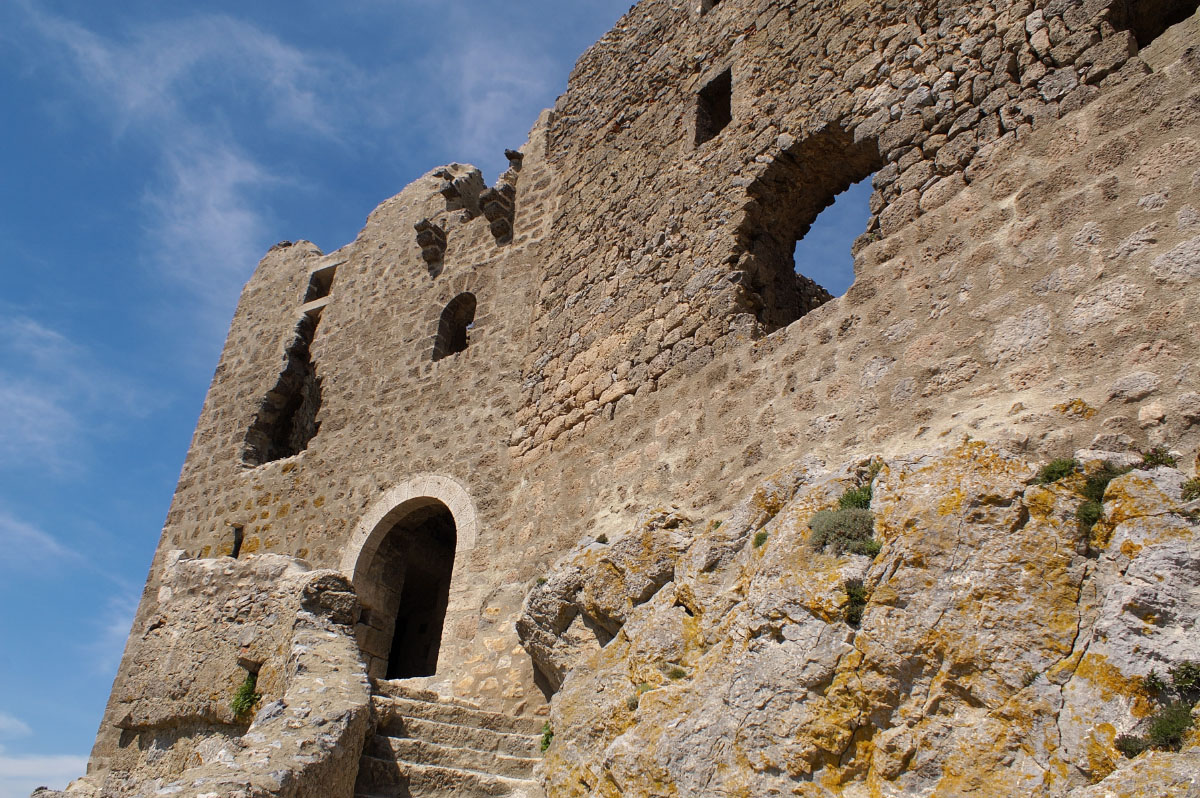
[[[378,726],[355,798],[542,798],[533,780],[545,719],[484,712],[436,692],[378,682]]]

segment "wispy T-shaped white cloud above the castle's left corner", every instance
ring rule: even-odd
[[[192,14],[106,37],[25,2],[66,82],[118,138],[151,156],[143,253],[186,289],[190,308],[223,329],[270,241],[264,132],[342,145],[338,120],[364,101],[362,73],[337,56],[292,47],[246,22]]]

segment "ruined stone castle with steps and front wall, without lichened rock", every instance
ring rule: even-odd
[[[494,186],[449,164],[274,247],[72,790],[348,798],[395,755],[412,794],[533,791],[562,674],[515,623],[578,541],[802,458],[1194,452],[1195,11],[642,0]],[[868,178],[832,296],[792,251]],[[491,758],[372,742],[412,718]]]

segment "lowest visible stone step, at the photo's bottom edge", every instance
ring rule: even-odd
[[[362,757],[355,794],[372,798],[542,798],[540,787],[529,779],[373,756]]]

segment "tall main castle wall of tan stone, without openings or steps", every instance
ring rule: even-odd
[[[1097,434],[1194,452],[1194,25],[1134,55],[1129,14],[1099,0],[724,0],[704,14],[644,0],[580,60],[502,181],[511,241],[504,198],[480,208],[478,178],[451,166],[337,252],[264,258],[118,682],[169,552],[228,554],[236,526],[241,556],[353,576],[365,518],[402,485],[449,480],[473,516],[434,686],[530,712],[545,696],[512,629],[527,588],[644,509],[720,517],[798,458],[964,436],[1044,455]],[[732,119],[697,144],[698,96],[726,70]],[[784,256],[871,172],[856,282],[822,304]],[[418,244],[425,220],[444,233],[432,263],[442,234]],[[305,305],[330,266],[328,301]],[[478,300],[469,346],[434,360],[463,292]],[[247,463],[298,322],[323,302],[317,432]]]

